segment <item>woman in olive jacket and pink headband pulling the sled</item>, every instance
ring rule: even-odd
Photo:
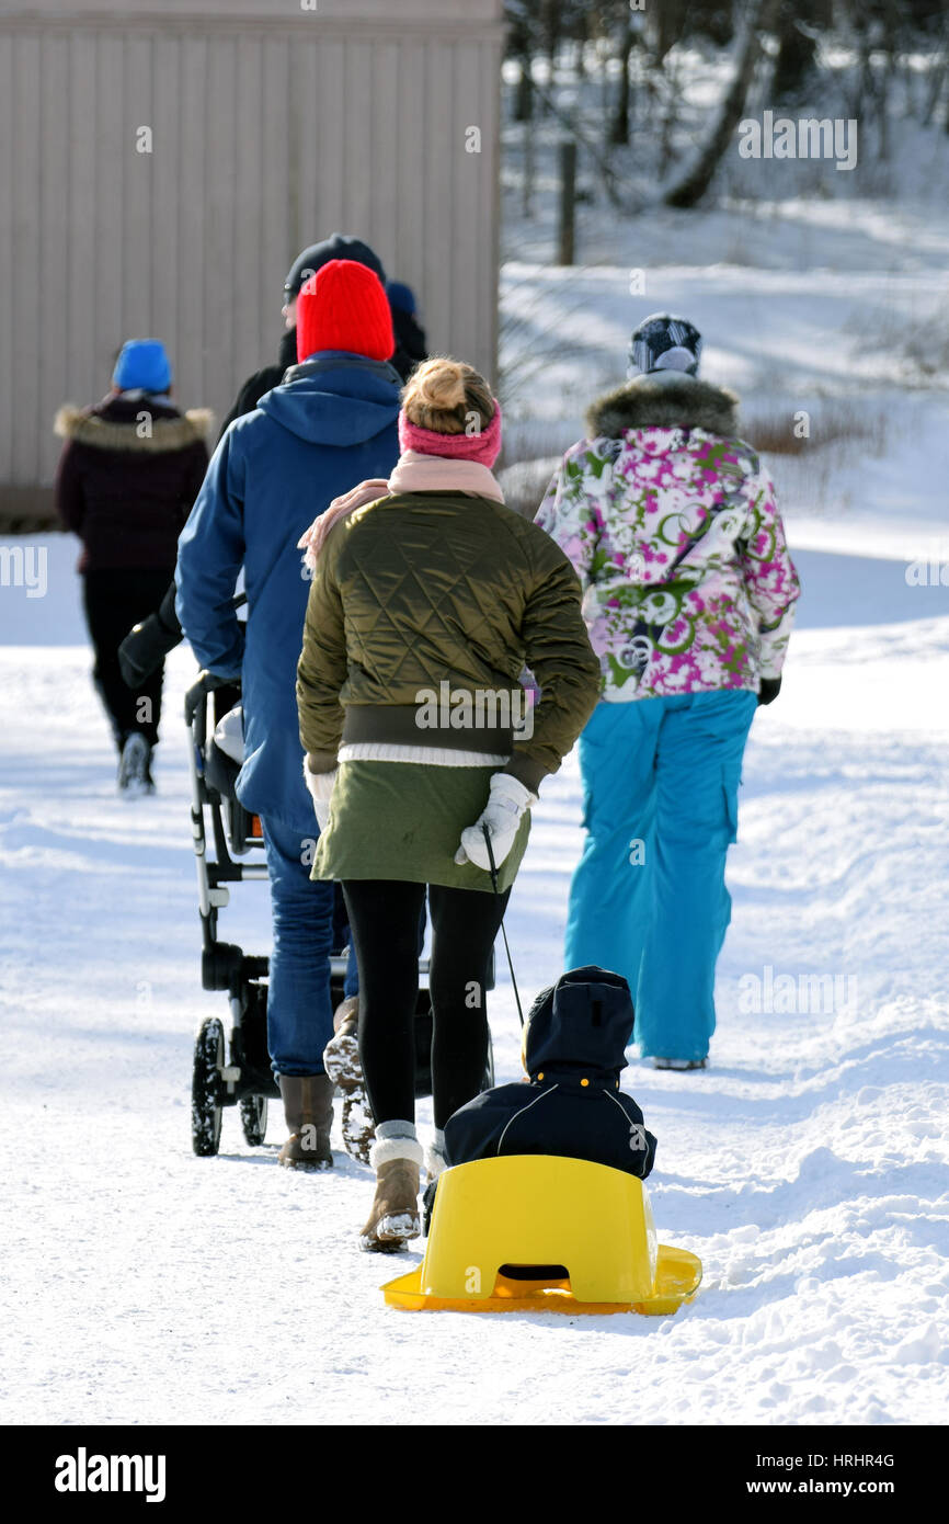
[[[538,786],[574,744],[599,663],[567,556],[504,506],[490,471],[501,411],[483,376],[413,372],[402,454],[311,536],[315,572],[297,672],[300,739],[321,821],[314,878],[340,879],[359,966],[359,1058],[376,1192],[359,1244],[419,1233],[414,1012],[428,887],[436,1137],[480,1090],[484,986]],[[529,664],[541,703],[529,709]],[[484,831],[497,864],[492,890]]]

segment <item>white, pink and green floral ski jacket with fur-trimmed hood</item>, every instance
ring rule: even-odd
[[[611,703],[759,689],[780,675],[800,596],[737,398],[664,372],[590,408],[536,515],[577,570]]]

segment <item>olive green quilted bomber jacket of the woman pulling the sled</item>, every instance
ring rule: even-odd
[[[454,718],[466,695],[516,703],[524,666],[541,690],[526,724],[474,730]],[[356,509],[326,539],[297,668],[314,771],[329,771],[344,741],[454,745],[510,753],[507,771],[536,791],[586,724],[599,686],[570,561],[503,503],[405,492]],[[451,695],[452,718],[419,728],[434,692]]]

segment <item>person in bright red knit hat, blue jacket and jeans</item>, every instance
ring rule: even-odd
[[[299,364],[222,436],[178,541],[177,614],[200,664],[239,678],[238,797],[260,817],[273,910],[267,1029],[289,1138],[283,1164],[332,1164],[332,884],[311,882],[314,806],[303,782],[296,671],[309,591],[297,541],[334,497],[387,477],[399,456],[399,375],[378,276],[323,265],[297,302]],[[247,588],[247,625],[232,600]]]

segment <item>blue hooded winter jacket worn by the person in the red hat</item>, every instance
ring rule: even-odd
[[[177,613],[195,657],[244,684],[238,797],[302,835],[314,812],[294,692],[309,590],[297,541],[334,497],[390,474],[398,413],[391,366],[315,355],[227,430],[178,546]],[[247,648],[232,607],[241,568]]]

